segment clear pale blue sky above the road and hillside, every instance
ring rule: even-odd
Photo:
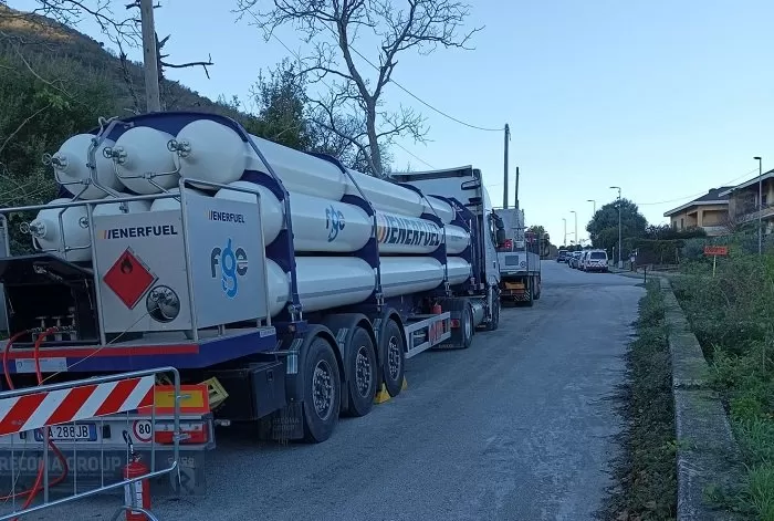
[[[588,200],[610,202],[617,195],[610,186],[621,187],[650,223],[661,223],[665,211],[710,188],[756,175],[753,156],[763,157],[764,169],[774,167],[771,0],[468,1],[467,27],[483,28],[474,49],[400,55],[393,77],[428,105],[498,131],[456,123],[388,85],[387,106],[412,107],[429,127],[427,143],[405,138],[393,147],[397,169],[473,165],[500,206],[499,129],[508,123],[509,191],[519,166],[527,225],[544,226],[561,244],[563,218],[567,241],[575,216],[578,237],[587,238]],[[22,10],[36,3],[9,1]],[[113,3],[118,12],[126,2]],[[209,80],[198,69],[167,73],[202,95],[244,100],[259,72],[289,55],[249,20],[237,21],[234,0],[160,3],[156,27],[160,37],[171,34],[170,60],[212,56]],[[105,40],[94,24],[79,29]],[[303,54],[299,34],[287,29],[278,37]],[[375,58],[376,43],[364,38],[355,48]],[[132,58],[139,61],[140,51]]]

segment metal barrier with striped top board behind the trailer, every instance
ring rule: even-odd
[[[151,442],[148,451],[150,461],[146,465],[135,454],[133,441],[154,438],[156,378],[170,374],[175,389],[172,457],[166,459],[164,466],[157,465],[157,448],[168,451],[170,447],[157,447]],[[10,375],[7,375],[7,379],[12,388]],[[180,375],[174,367],[0,392],[0,454],[7,457],[3,461],[8,465],[3,467],[9,467],[11,481],[9,493],[0,497],[0,521],[117,489],[124,489],[125,500],[113,519],[118,519],[126,511],[127,519],[157,521],[149,508],[149,480],[179,468],[180,399]],[[129,415],[139,410],[149,411],[151,419],[142,425],[130,420]],[[101,454],[102,463],[106,451],[106,428],[123,430],[127,463],[122,478],[115,479],[109,469],[100,465],[96,469],[100,471],[100,482],[81,491],[84,483],[79,483],[79,472],[85,469],[81,465],[71,468],[71,461],[79,461],[79,451],[96,450]],[[107,450],[115,454],[111,447]],[[31,460],[36,467],[34,483],[24,487],[21,483],[22,473],[27,470],[29,475],[32,466],[28,463]],[[4,470],[0,476],[7,473]],[[52,470],[57,476],[52,477]],[[62,486],[71,472],[72,483]],[[42,502],[33,506],[41,493]],[[21,501],[23,503],[18,508]]]

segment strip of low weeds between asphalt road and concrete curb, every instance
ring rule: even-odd
[[[674,406],[665,304],[657,281],[639,304],[637,336],[627,354],[621,388],[624,454],[616,462],[617,484],[603,512],[615,521],[674,519],[677,508]]]

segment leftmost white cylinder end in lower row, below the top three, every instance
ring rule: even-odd
[[[54,199],[50,204],[70,202],[70,199]],[[62,229],[60,229],[60,212]],[[62,257],[71,262],[91,260],[91,237],[88,235],[88,213],[85,206],[70,208],[43,208],[30,222],[30,232],[43,250]],[[63,233],[62,233],[63,232]],[[79,248],[65,252],[65,248]]]

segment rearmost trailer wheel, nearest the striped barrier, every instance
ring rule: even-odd
[[[312,341],[303,367],[304,439],[325,441],[338,421],[342,403],[342,381],[331,344],[325,338]]]

